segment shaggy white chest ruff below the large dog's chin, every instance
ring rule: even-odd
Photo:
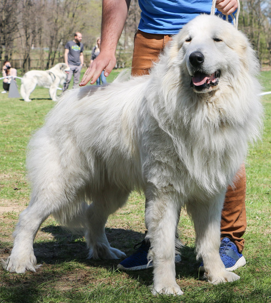
[[[207,193],[226,188],[246,153],[246,144],[230,136],[235,129],[216,93],[194,94],[193,104],[175,108],[170,117],[156,114],[164,135],[150,138],[146,149],[150,167],[157,163],[148,180],[158,187],[172,185],[185,195],[191,188]]]

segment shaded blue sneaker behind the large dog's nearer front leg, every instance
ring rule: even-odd
[[[137,246],[140,245],[138,248]],[[147,255],[150,249],[149,241],[145,241],[145,239],[136,244],[134,249],[137,251],[134,252],[130,257],[124,259],[117,265],[118,269],[121,270],[140,270],[153,267],[152,262],[149,262],[147,259]],[[180,255],[175,255],[175,263],[181,261]]]

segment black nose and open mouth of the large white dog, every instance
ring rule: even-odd
[[[190,83],[191,87],[200,92],[209,89],[210,86],[218,85],[220,70],[217,70],[212,74],[204,73],[204,68],[202,67],[204,63],[203,53],[191,53],[189,55],[189,63],[193,68],[193,75]]]

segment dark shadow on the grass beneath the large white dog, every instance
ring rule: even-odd
[[[117,264],[121,260],[93,260],[87,259],[86,241],[83,233],[72,233],[61,226],[46,226],[41,229],[48,233],[50,241],[39,241],[34,244],[34,252],[38,262],[45,264],[61,264],[67,261],[78,261],[86,266],[103,267],[108,270],[117,270]],[[106,228],[106,235],[112,247],[131,255],[134,245],[140,243],[145,235],[143,233],[124,228]],[[181,261],[176,264],[177,277],[198,278],[198,265],[194,248],[184,246],[181,249]],[[134,279],[139,279],[142,284],[149,285],[152,281],[152,268],[139,271],[127,271]]]

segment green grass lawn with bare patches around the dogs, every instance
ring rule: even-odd
[[[119,71],[108,78],[112,81]],[[83,74],[83,73],[82,73]],[[262,72],[264,91],[271,91],[271,72]],[[18,81],[20,83],[20,81]],[[2,85],[2,83],[1,83]],[[60,92],[60,91],[59,91]],[[36,88],[32,102],[0,94],[0,257],[12,249],[12,231],[18,214],[29,202],[25,178],[25,150],[31,134],[40,127],[54,102],[48,89]],[[271,302],[271,95],[263,97],[263,140],[247,157],[247,231],[243,254],[247,264],[236,270],[239,281],[210,285],[198,273],[194,254],[194,230],[185,211],[179,223],[184,243],[182,261],[176,265],[180,297],[150,294],[152,270],[121,272],[118,261],[88,260],[83,235],[62,229],[49,217],[38,231],[34,251],[37,272],[10,274],[0,269],[0,303],[21,302]],[[144,238],[144,197],[133,192],[126,206],[112,215],[106,227],[113,247],[130,255]]]

